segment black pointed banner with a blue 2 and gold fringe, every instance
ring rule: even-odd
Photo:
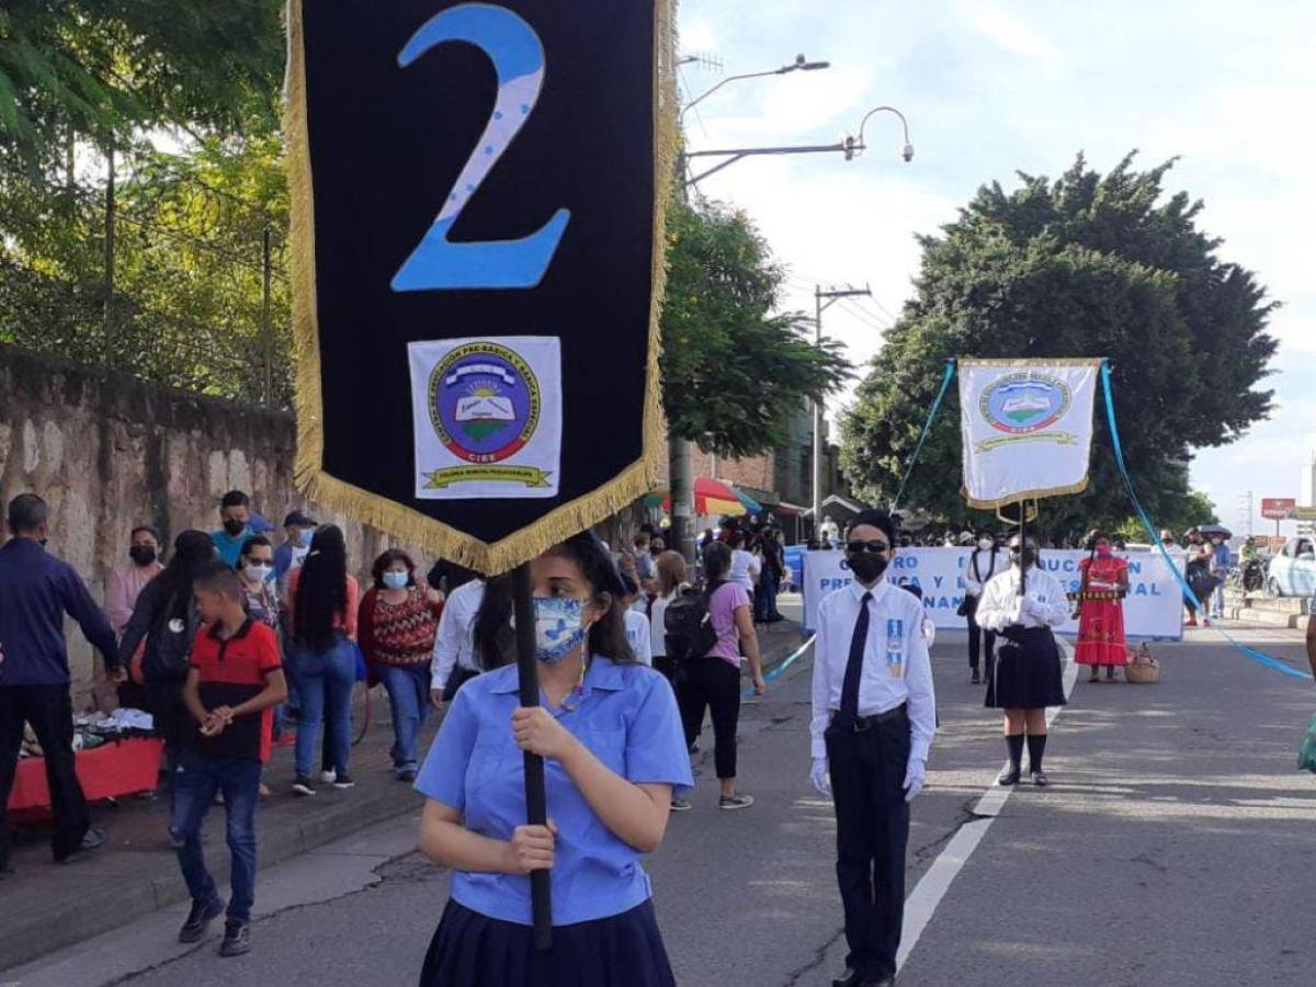
[[[486,572],[649,490],[666,0],[292,0],[297,478]]]

